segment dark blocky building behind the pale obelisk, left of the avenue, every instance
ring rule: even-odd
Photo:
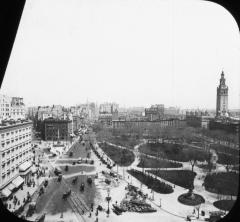
[[[63,119],[45,119],[42,122],[43,140],[68,140],[72,134],[72,121]]]

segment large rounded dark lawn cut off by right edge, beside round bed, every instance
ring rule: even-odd
[[[205,189],[212,193],[236,196],[238,194],[239,173],[219,172],[207,174],[204,180]]]

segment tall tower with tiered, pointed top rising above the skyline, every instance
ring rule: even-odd
[[[217,107],[216,116],[226,116],[228,114],[228,87],[225,84],[224,72],[222,71],[220,83],[217,87]]]

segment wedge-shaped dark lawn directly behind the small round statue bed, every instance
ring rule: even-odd
[[[196,176],[196,173],[190,170],[148,170],[147,172],[186,189],[193,187]]]

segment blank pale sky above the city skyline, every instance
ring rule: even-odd
[[[29,0],[1,93],[27,105],[215,108],[223,69],[238,108],[239,58],[237,23],[212,2]]]

